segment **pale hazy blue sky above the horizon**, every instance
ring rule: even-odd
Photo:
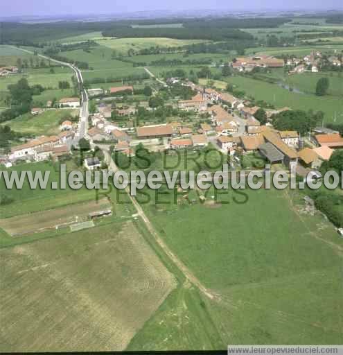
[[[1,0],[1,16],[115,14],[144,10],[332,10],[342,0]]]

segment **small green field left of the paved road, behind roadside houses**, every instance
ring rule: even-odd
[[[69,119],[70,116],[78,116],[78,110],[51,109],[37,116],[27,113],[5,124],[17,132],[33,135],[56,135],[60,132],[60,120]]]

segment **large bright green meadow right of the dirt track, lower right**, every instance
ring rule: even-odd
[[[170,205],[142,205],[171,250],[217,297],[196,297],[185,284],[128,349],[340,343],[342,239],[320,214],[304,213],[297,191],[241,192],[223,193],[218,204],[209,191],[203,205],[197,198],[176,206],[165,195]],[[148,334],[156,336],[146,343]]]

